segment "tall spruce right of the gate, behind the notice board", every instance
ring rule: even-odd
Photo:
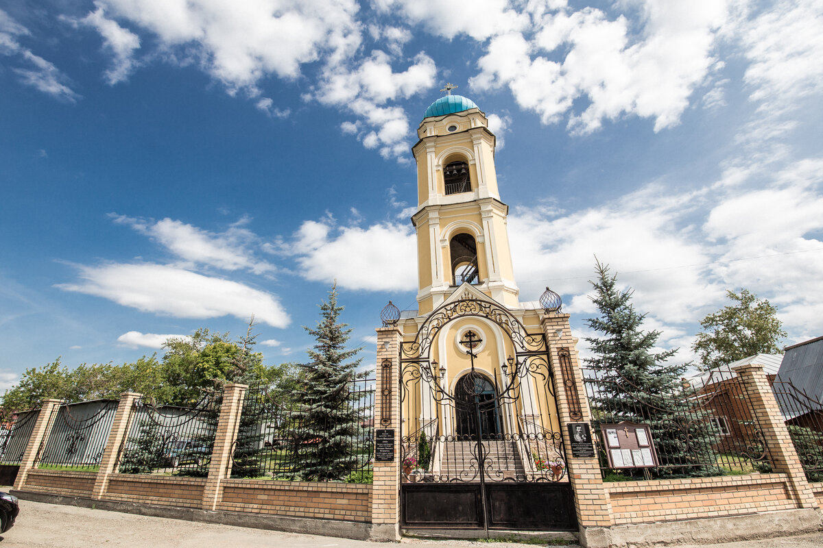
[[[588,327],[603,334],[586,338],[593,357],[585,362],[597,377],[597,390],[590,400],[594,430],[599,431],[602,423],[620,421],[649,424],[658,456],[673,465],[658,469],[658,474],[717,472],[710,447],[714,439],[701,420],[708,417],[686,413],[681,376],[688,364],[667,363],[677,348],[653,352],[661,333],[641,329],[645,314],[631,304],[633,291],[617,288],[617,277],[609,274],[608,265],[597,261],[596,271],[592,301],[600,315],[585,320]],[[690,440],[689,445],[682,440]]]

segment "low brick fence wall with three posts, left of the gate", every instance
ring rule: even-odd
[[[35,436],[29,447],[21,471],[18,472],[14,492],[22,498],[51,497],[49,500],[67,502],[77,500],[102,501],[107,504],[121,504],[122,509],[135,510],[135,504],[147,509],[186,509],[194,512],[220,511],[233,515],[253,514],[258,518],[266,516],[288,518],[281,521],[281,528],[301,532],[328,532],[336,536],[369,538],[369,530],[360,527],[372,521],[372,507],[379,503],[384,508],[385,500],[375,500],[373,486],[354,483],[272,481],[231,479],[231,447],[235,440],[243,401],[244,385],[227,385],[224,405],[217,423],[216,451],[209,462],[207,477],[179,477],[151,474],[122,474],[115,472],[119,451],[130,428],[131,408],[139,394],[123,394],[97,472],[40,469],[37,457],[48,442],[53,417],[59,409],[59,402],[49,401],[44,405],[35,425]],[[390,470],[390,468],[389,468]],[[385,491],[385,490],[384,490]],[[57,496],[58,499],[54,499]],[[378,497],[379,499],[379,497]],[[396,501],[395,501],[396,504]],[[117,508],[116,506],[114,507]],[[142,511],[142,510],[141,510]],[[156,512],[157,513],[157,512]],[[162,512],[160,512],[162,514]],[[171,514],[176,515],[176,514]],[[197,514],[185,514],[197,518]],[[295,525],[295,518],[314,520],[314,526],[306,523]],[[319,520],[319,521],[318,521]],[[267,527],[265,521],[253,523],[257,527]],[[330,527],[329,521],[340,525]],[[360,524],[346,528],[345,523]],[[382,540],[384,532],[378,537]],[[388,539],[396,540],[396,539]]]

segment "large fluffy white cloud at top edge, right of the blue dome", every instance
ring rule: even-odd
[[[470,80],[477,90],[508,86],[518,104],[544,123],[570,113],[569,128],[588,133],[602,120],[652,117],[654,130],[679,123],[689,97],[709,74],[715,33],[728,18],[725,2],[642,3],[641,34],[625,16],[597,9],[541,15],[537,34],[500,33],[491,39]],[[562,62],[556,53],[565,53]],[[574,101],[588,99],[583,112]]]

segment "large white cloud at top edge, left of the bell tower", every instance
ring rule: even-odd
[[[161,48],[197,56],[230,91],[258,94],[269,75],[295,79],[300,66],[339,62],[360,45],[353,0],[226,2],[99,0],[98,9],[153,34]]]

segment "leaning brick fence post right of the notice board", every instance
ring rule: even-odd
[[[746,388],[751,412],[763,428],[766,449],[772,458],[774,472],[788,474],[791,495],[799,508],[818,508],[815,495],[806,480],[806,472],[803,472],[803,465],[794,449],[792,436],[788,433],[777,399],[774,398],[769,380],[763,372],[763,366],[752,363],[736,367],[735,371]]]

